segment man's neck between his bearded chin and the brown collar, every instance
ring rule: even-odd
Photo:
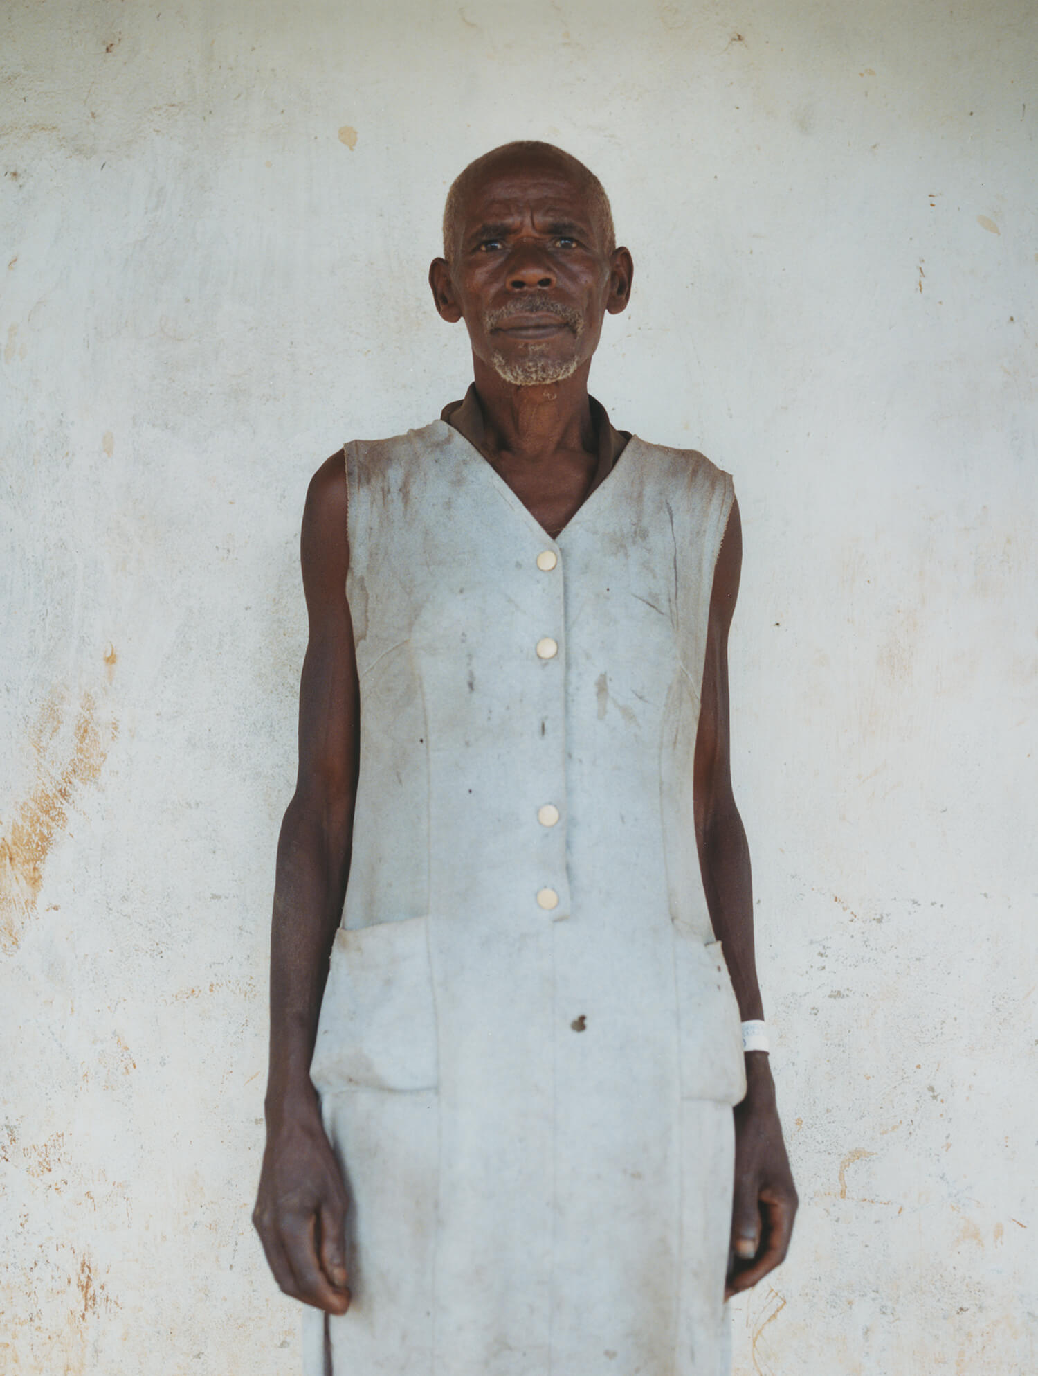
[[[587,395],[590,363],[561,383],[516,387],[481,359],[473,359],[480,416],[458,427],[488,458],[514,455],[531,464],[560,451],[595,454],[595,427]],[[478,429],[478,435],[469,433]]]

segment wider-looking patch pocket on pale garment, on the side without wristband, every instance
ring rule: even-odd
[[[309,1073],[320,1094],[436,1087],[428,918],[338,929]]]

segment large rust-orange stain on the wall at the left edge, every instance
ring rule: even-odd
[[[70,742],[60,729],[63,711],[62,695],[52,694],[29,733],[36,784],[10,820],[0,820],[0,948],[8,954],[18,949],[25,923],[36,911],[44,863],[67,826],[76,791],[98,779],[114,733],[107,731],[104,739],[89,692],[80,698]]]

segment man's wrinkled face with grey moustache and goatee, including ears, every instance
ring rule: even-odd
[[[470,186],[450,266],[433,264],[437,310],[465,321],[473,355],[506,383],[562,381],[591,359],[605,312],[627,304],[630,274],[613,260],[630,255],[608,255],[604,234],[565,162],[505,157]]]

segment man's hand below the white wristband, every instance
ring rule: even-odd
[[[736,1194],[725,1298],[785,1260],[797,1197],[764,1051],[747,1055],[747,1097],[736,1106]]]

